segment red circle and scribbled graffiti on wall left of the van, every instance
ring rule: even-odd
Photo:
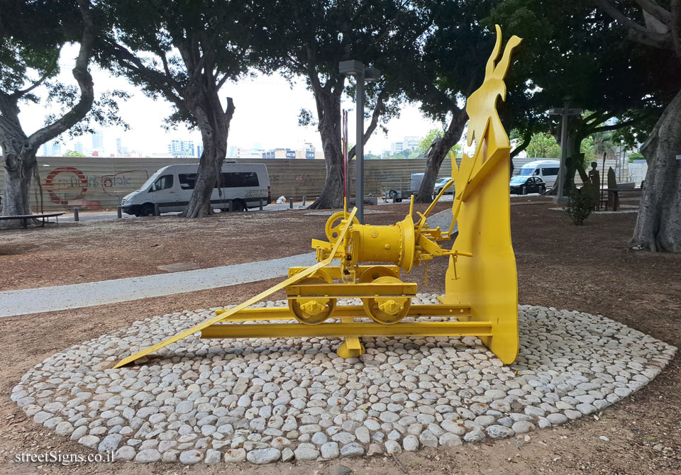
[[[86,175],[76,167],[57,167],[45,178],[43,190],[48,193],[52,203],[99,206],[102,198],[121,198],[121,194],[128,194],[131,186],[135,186],[134,182],[142,184],[148,178],[149,173],[143,169]],[[118,189],[121,191],[116,191]]]

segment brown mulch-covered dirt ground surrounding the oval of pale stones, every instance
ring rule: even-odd
[[[511,206],[511,228],[521,303],[607,315],[681,347],[681,255],[628,249],[635,213],[598,214],[572,225],[552,203]],[[375,224],[404,217],[406,204],[380,206]],[[438,211],[446,204],[438,206]],[[419,210],[421,208],[418,208]],[[204,220],[160,217],[82,222],[0,233],[2,289],[70,284],[164,272],[159,266],[212,267],[310,250],[323,236],[323,216],[305,211],[246,213]],[[49,260],[48,260],[49,259]],[[444,259],[443,259],[444,260]],[[445,262],[412,272],[425,291],[443,291]],[[681,354],[645,389],[602,413],[558,428],[494,443],[426,449],[397,458],[343,459],[253,466],[133,463],[15,462],[16,454],[89,449],[27,419],[9,393],[33,365],[51,354],[134,320],[181,309],[239,303],[276,280],[190,294],[150,298],[2,319],[0,333],[0,474],[249,474],[336,475],[341,464],[356,474],[681,474]],[[599,437],[605,436],[608,440]]]

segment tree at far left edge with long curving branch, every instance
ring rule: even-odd
[[[88,0],[11,1],[0,4],[0,147],[5,169],[2,216],[31,213],[28,197],[31,178],[38,177],[35,154],[81,121],[94,101],[88,71],[96,36]],[[50,82],[59,73],[58,60],[65,43],[78,42],[72,69],[78,89]],[[38,87],[47,85],[50,96],[63,99],[62,113],[50,116],[43,128],[26,133],[19,119],[20,106],[38,102]],[[38,181],[39,182],[39,181]],[[9,225],[18,225],[13,220]]]

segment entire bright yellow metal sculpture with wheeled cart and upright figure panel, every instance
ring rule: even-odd
[[[506,96],[504,77],[511,51],[521,39],[511,37],[501,60],[502,35],[485,68],[485,81],[468,98],[468,145],[460,167],[451,156],[452,177],[425,213],[409,214],[394,225],[362,225],[356,209],[341,211],[326,223],[328,241],[312,240],[317,264],[292,267],[288,279],[213,318],[163,340],[116,364],[121,367],[201,331],[202,338],[344,337],[341,357],[364,352],[360,337],[480,337],[502,362],[518,352],[518,285],[511,247],[509,218],[509,138],[497,114],[497,99]],[[453,220],[448,232],[429,228],[427,219],[443,193],[455,184]],[[455,223],[458,237],[451,249]],[[435,257],[447,257],[442,305],[412,305],[416,284],[400,273]],[[339,264],[331,263],[338,260]],[[359,262],[380,262],[362,265]],[[263,298],[285,290],[288,308],[250,308]],[[337,306],[338,298],[360,298],[362,306]],[[445,321],[403,321],[448,317]],[[289,323],[276,323],[289,320]],[[297,320],[297,322],[295,321]],[[260,323],[260,322],[274,323]]]

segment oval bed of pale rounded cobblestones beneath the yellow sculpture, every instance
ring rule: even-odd
[[[359,301],[339,302],[348,303]],[[365,338],[366,354],[342,359],[338,338],[196,334],[111,369],[212,315],[146,318],[74,345],[28,371],[11,399],[36,423],[121,460],[328,460],[563,424],[638,391],[676,351],[602,315],[519,306],[520,353],[508,366],[476,337]]]

